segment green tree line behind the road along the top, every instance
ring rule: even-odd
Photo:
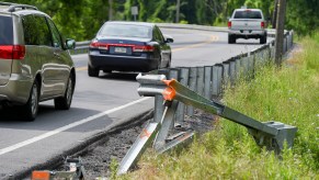
[[[12,0],[37,7],[53,18],[67,37],[91,40],[110,19],[133,21],[130,8],[138,7],[137,21],[226,25],[233,9],[242,5],[262,9],[271,27],[277,0]],[[308,35],[319,29],[318,0],[286,0],[285,27],[298,35]],[[110,13],[110,10],[112,10]]]

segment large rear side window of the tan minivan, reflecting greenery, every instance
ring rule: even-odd
[[[52,37],[44,16],[25,15],[22,18],[24,42],[26,45],[52,46]]]

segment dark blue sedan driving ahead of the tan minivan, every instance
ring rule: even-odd
[[[173,38],[164,36],[153,23],[116,22],[103,24],[89,48],[88,74],[150,71],[171,65]]]

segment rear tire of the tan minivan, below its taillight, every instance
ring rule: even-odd
[[[34,81],[26,104],[21,106],[21,111],[26,121],[34,121],[38,112],[39,88],[37,80]]]

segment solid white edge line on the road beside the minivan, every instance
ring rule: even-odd
[[[84,124],[84,123],[91,122],[91,121],[96,120],[96,119],[99,119],[99,117],[101,117],[101,116],[103,116],[103,115],[106,115],[106,114],[110,114],[110,113],[113,113],[113,112],[116,112],[116,111],[123,110],[123,109],[125,109],[125,108],[127,108],[127,106],[130,106],[130,105],[137,104],[137,103],[143,102],[143,101],[146,101],[146,100],[148,100],[148,99],[150,99],[150,98],[149,98],[149,97],[141,98],[141,99],[137,100],[137,101],[129,102],[129,103],[127,103],[127,104],[125,104],[125,105],[121,105],[121,106],[114,108],[114,109],[112,109],[112,110],[104,111],[104,112],[102,112],[102,113],[99,113],[99,114],[95,114],[95,115],[89,116],[89,117],[83,119],[83,120],[80,120],[80,121],[78,121],[78,122],[75,122],[75,123],[68,124],[68,125],[66,125],[66,126],[62,126],[62,127],[56,128],[56,130],[54,130],[54,131],[47,132],[47,133],[42,134],[42,135],[39,135],[39,136],[36,136],[36,137],[30,138],[30,139],[27,139],[27,140],[24,140],[24,142],[18,143],[18,144],[15,144],[15,145],[12,145],[12,146],[9,146],[9,147],[5,147],[5,148],[2,148],[2,149],[0,149],[0,156],[1,156],[1,155],[4,155],[4,154],[7,154],[7,153],[10,153],[10,151],[12,151],[12,150],[19,149],[19,148],[21,148],[21,147],[27,146],[27,145],[30,145],[30,144],[36,143],[36,142],[42,140],[42,139],[44,139],[44,138],[50,137],[50,136],[56,135],[56,134],[58,134],[58,133],[61,133],[61,132],[64,132],[64,131],[70,130],[70,128],[72,128],[72,127],[76,127],[76,126],[82,125],[82,124]]]

